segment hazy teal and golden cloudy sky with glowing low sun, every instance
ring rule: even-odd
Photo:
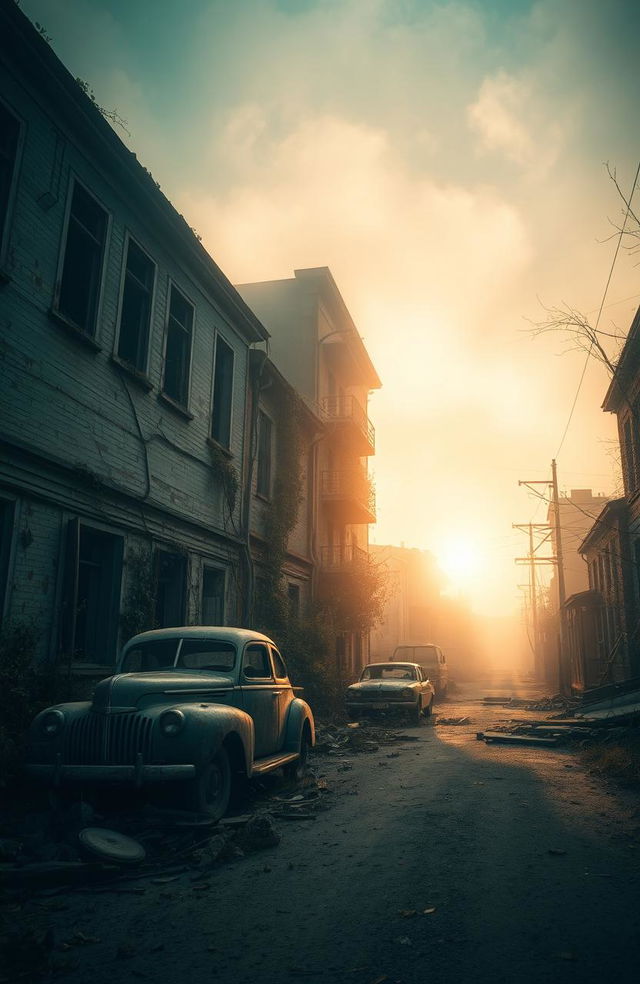
[[[604,162],[629,189],[640,155],[640,4],[21,7],[233,282],[331,268],[383,381],[372,539],[467,549],[475,607],[515,608],[511,523],[544,515],[517,482],[549,474],[584,364],[528,319],[600,306],[622,214]],[[636,263],[621,251],[607,331],[640,303]],[[561,489],[619,489],[607,384],[590,364]]]

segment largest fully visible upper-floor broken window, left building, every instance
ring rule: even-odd
[[[58,311],[87,335],[96,330],[106,238],[107,213],[74,182]]]

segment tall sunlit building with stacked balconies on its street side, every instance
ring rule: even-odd
[[[313,593],[340,602],[334,605],[335,655],[351,677],[368,656],[368,631],[358,625],[357,608],[376,517],[367,468],[375,432],[367,402],[380,379],[327,267],[240,284],[238,291],[269,330],[273,365],[323,424],[308,460]]]

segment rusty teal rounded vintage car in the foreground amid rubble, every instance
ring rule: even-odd
[[[38,714],[26,768],[56,786],[171,783],[176,804],[220,818],[234,778],[300,778],[314,741],[271,639],[188,626],[134,636],[93,701]]]

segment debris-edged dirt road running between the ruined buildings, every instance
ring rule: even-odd
[[[460,697],[438,713],[471,723],[316,757],[333,805],[281,822],[278,847],[204,882],[185,874],[139,895],[44,900],[56,939],[99,939],[72,947],[65,979],[637,980],[638,798],[569,751],[476,740],[513,712]]]

